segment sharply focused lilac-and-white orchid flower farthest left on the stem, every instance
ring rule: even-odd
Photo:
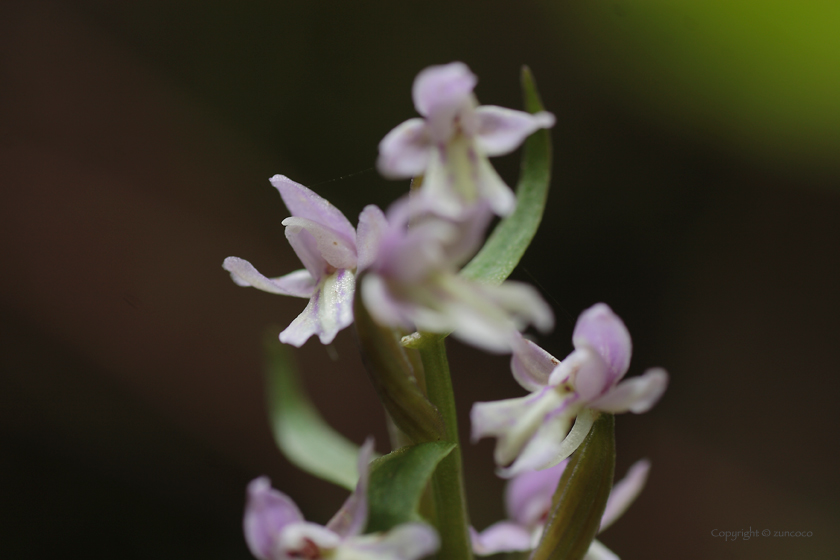
[[[302,346],[317,334],[329,344],[353,322],[356,272],[356,230],[335,206],[303,185],[275,175],[271,184],[292,216],[283,220],[286,238],[305,268],[279,278],[267,278],[238,257],[222,265],[240,286],[309,298],[303,313],[280,333],[280,341]]]

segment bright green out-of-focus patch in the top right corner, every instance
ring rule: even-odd
[[[544,7],[563,28],[558,48],[644,118],[750,158],[836,168],[840,4],[590,0]]]

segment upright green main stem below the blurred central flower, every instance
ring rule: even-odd
[[[433,341],[419,351],[426,373],[429,400],[443,418],[446,440],[457,445],[455,394],[452,391],[444,341]],[[432,475],[432,489],[437,512],[436,527],[441,541],[438,560],[472,560],[460,445],[438,464],[435,474]]]

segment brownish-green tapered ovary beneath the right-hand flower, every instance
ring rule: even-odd
[[[615,472],[615,417],[601,414],[575,451],[552,498],[531,560],[581,560],[601,526]]]

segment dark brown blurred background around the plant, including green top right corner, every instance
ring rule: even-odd
[[[557,115],[546,219],[515,277],[558,317],[605,301],[631,375],[618,470],[648,487],[603,541],[624,560],[840,551],[840,8],[778,0],[0,5],[0,555],[250,558],[244,487],[268,474],[324,522],[345,492],[291,467],[266,421],[260,340],[305,302],[236,287],[236,255],[299,265],[268,177],[355,221],[407,188],[372,169],[430,64],[487,104],[533,69]],[[495,160],[515,181],[517,156]],[[507,358],[451,343],[472,402],[522,394]],[[383,416],[350,330],[296,353],[355,441]],[[478,528],[493,442],[465,445]],[[835,465],[834,467],[832,465]],[[724,542],[711,531],[811,531]]]

